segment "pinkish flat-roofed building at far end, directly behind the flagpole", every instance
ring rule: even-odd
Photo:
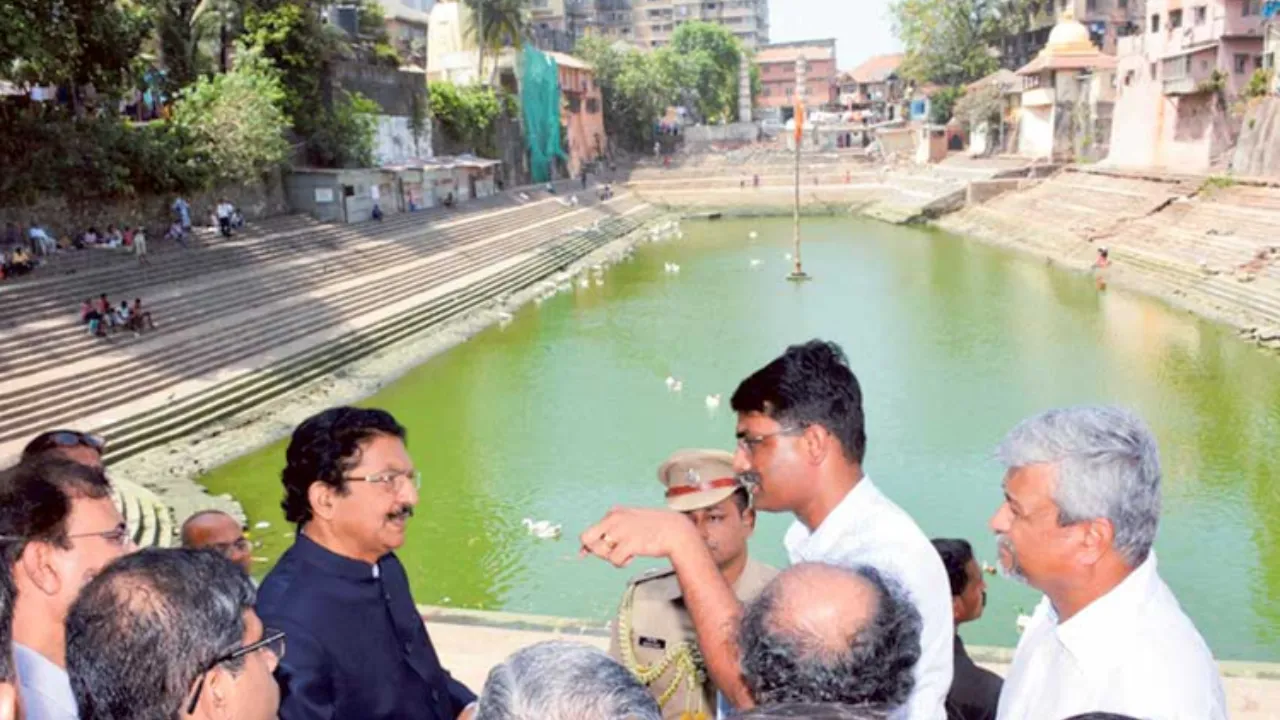
[[[767,45],[755,53],[760,68],[758,108],[782,110],[790,118],[796,104],[796,60],[805,60],[805,105],[810,110],[836,109],[840,86],[836,77],[836,41],[808,40]]]

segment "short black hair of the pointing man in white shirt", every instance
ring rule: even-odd
[[[763,413],[783,425],[822,425],[854,462],[867,454],[863,391],[835,342],[813,340],[787,347],[742,380],[730,405],[735,413]]]

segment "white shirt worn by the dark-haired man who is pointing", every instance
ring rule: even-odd
[[[941,720],[951,689],[951,583],[938,551],[901,507],[864,477],[813,533],[796,521],[783,543],[791,562],[870,565],[897,579],[920,612],[915,688],[895,719]]]

